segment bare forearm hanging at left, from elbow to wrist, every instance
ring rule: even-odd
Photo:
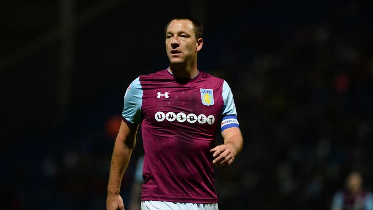
[[[130,161],[132,150],[133,147],[129,147],[122,140],[115,141],[107,186],[109,194],[119,194],[122,177]]]

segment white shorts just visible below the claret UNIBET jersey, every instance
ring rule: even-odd
[[[166,201],[141,201],[141,210],[218,210],[218,203],[179,203]]]

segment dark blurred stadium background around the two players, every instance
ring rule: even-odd
[[[235,97],[244,149],[220,210],[328,210],[373,186],[373,1],[1,0],[0,209],[102,210],[123,96],[168,67],[164,26],[204,25],[198,68]],[[127,208],[141,131],[122,196]],[[217,143],[221,143],[218,133]]]

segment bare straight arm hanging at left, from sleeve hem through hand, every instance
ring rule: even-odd
[[[119,195],[120,185],[130,161],[132,150],[135,147],[137,128],[138,125],[128,126],[122,120],[111,158],[109,183],[107,186],[107,210],[124,210],[123,199]]]

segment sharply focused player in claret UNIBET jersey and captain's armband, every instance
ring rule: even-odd
[[[243,138],[228,84],[197,69],[202,28],[191,16],[171,19],[165,28],[169,68],[139,76],[127,88],[111,161],[108,210],[124,210],[120,184],[140,123],[145,152],[141,208],[218,210],[213,166],[231,165]],[[214,146],[218,122],[224,144]]]

